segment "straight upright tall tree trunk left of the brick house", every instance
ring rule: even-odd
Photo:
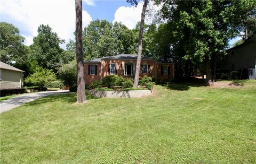
[[[85,101],[84,56],[82,47],[82,0],[76,0],[77,103],[83,103]]]

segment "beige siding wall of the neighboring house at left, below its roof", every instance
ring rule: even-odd
[[[23,73],[12,70],[1,69],[2,80],[0,88],[20,88],[23,85]]]

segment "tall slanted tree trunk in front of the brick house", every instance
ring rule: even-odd
[[[134,88],[138,88],[138,85],[139,85],[140,62],[141,62],[141,54],[142,54],[142,37],[143,37],[143,29],[144,29],[144,21],[145,21],[147,4],[148,4],[148,0],[145,0],[143,4],[142,12],[141,12],[138,57],[137,57],[136,71],[135,71],[134,84],[133,84]]]

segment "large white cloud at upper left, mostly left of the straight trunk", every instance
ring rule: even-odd
[[[85,3],[88,4],[89,1],[86,0]],[[8,15],[21,27],[27,28],[23,29],[23,31],[27,31],[26,35],[23,34],[27,45],[32,43],[31,38],[37,36],[37,28],[40,24],[49,24],[53,31],[57,32],[58,36],[65,39],[66,42],[74,38],[74,0],[1,0],[0,6],[1,15]],[[92,21],[91,15],[83,10],[83,27],[90,21]]]

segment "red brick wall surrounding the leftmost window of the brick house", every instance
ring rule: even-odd
[[[89,75],[89,64],[97,65],[97,75]],[[84,63],[84,82],[90,84],[93,81],[101,81],[101,63]]]

